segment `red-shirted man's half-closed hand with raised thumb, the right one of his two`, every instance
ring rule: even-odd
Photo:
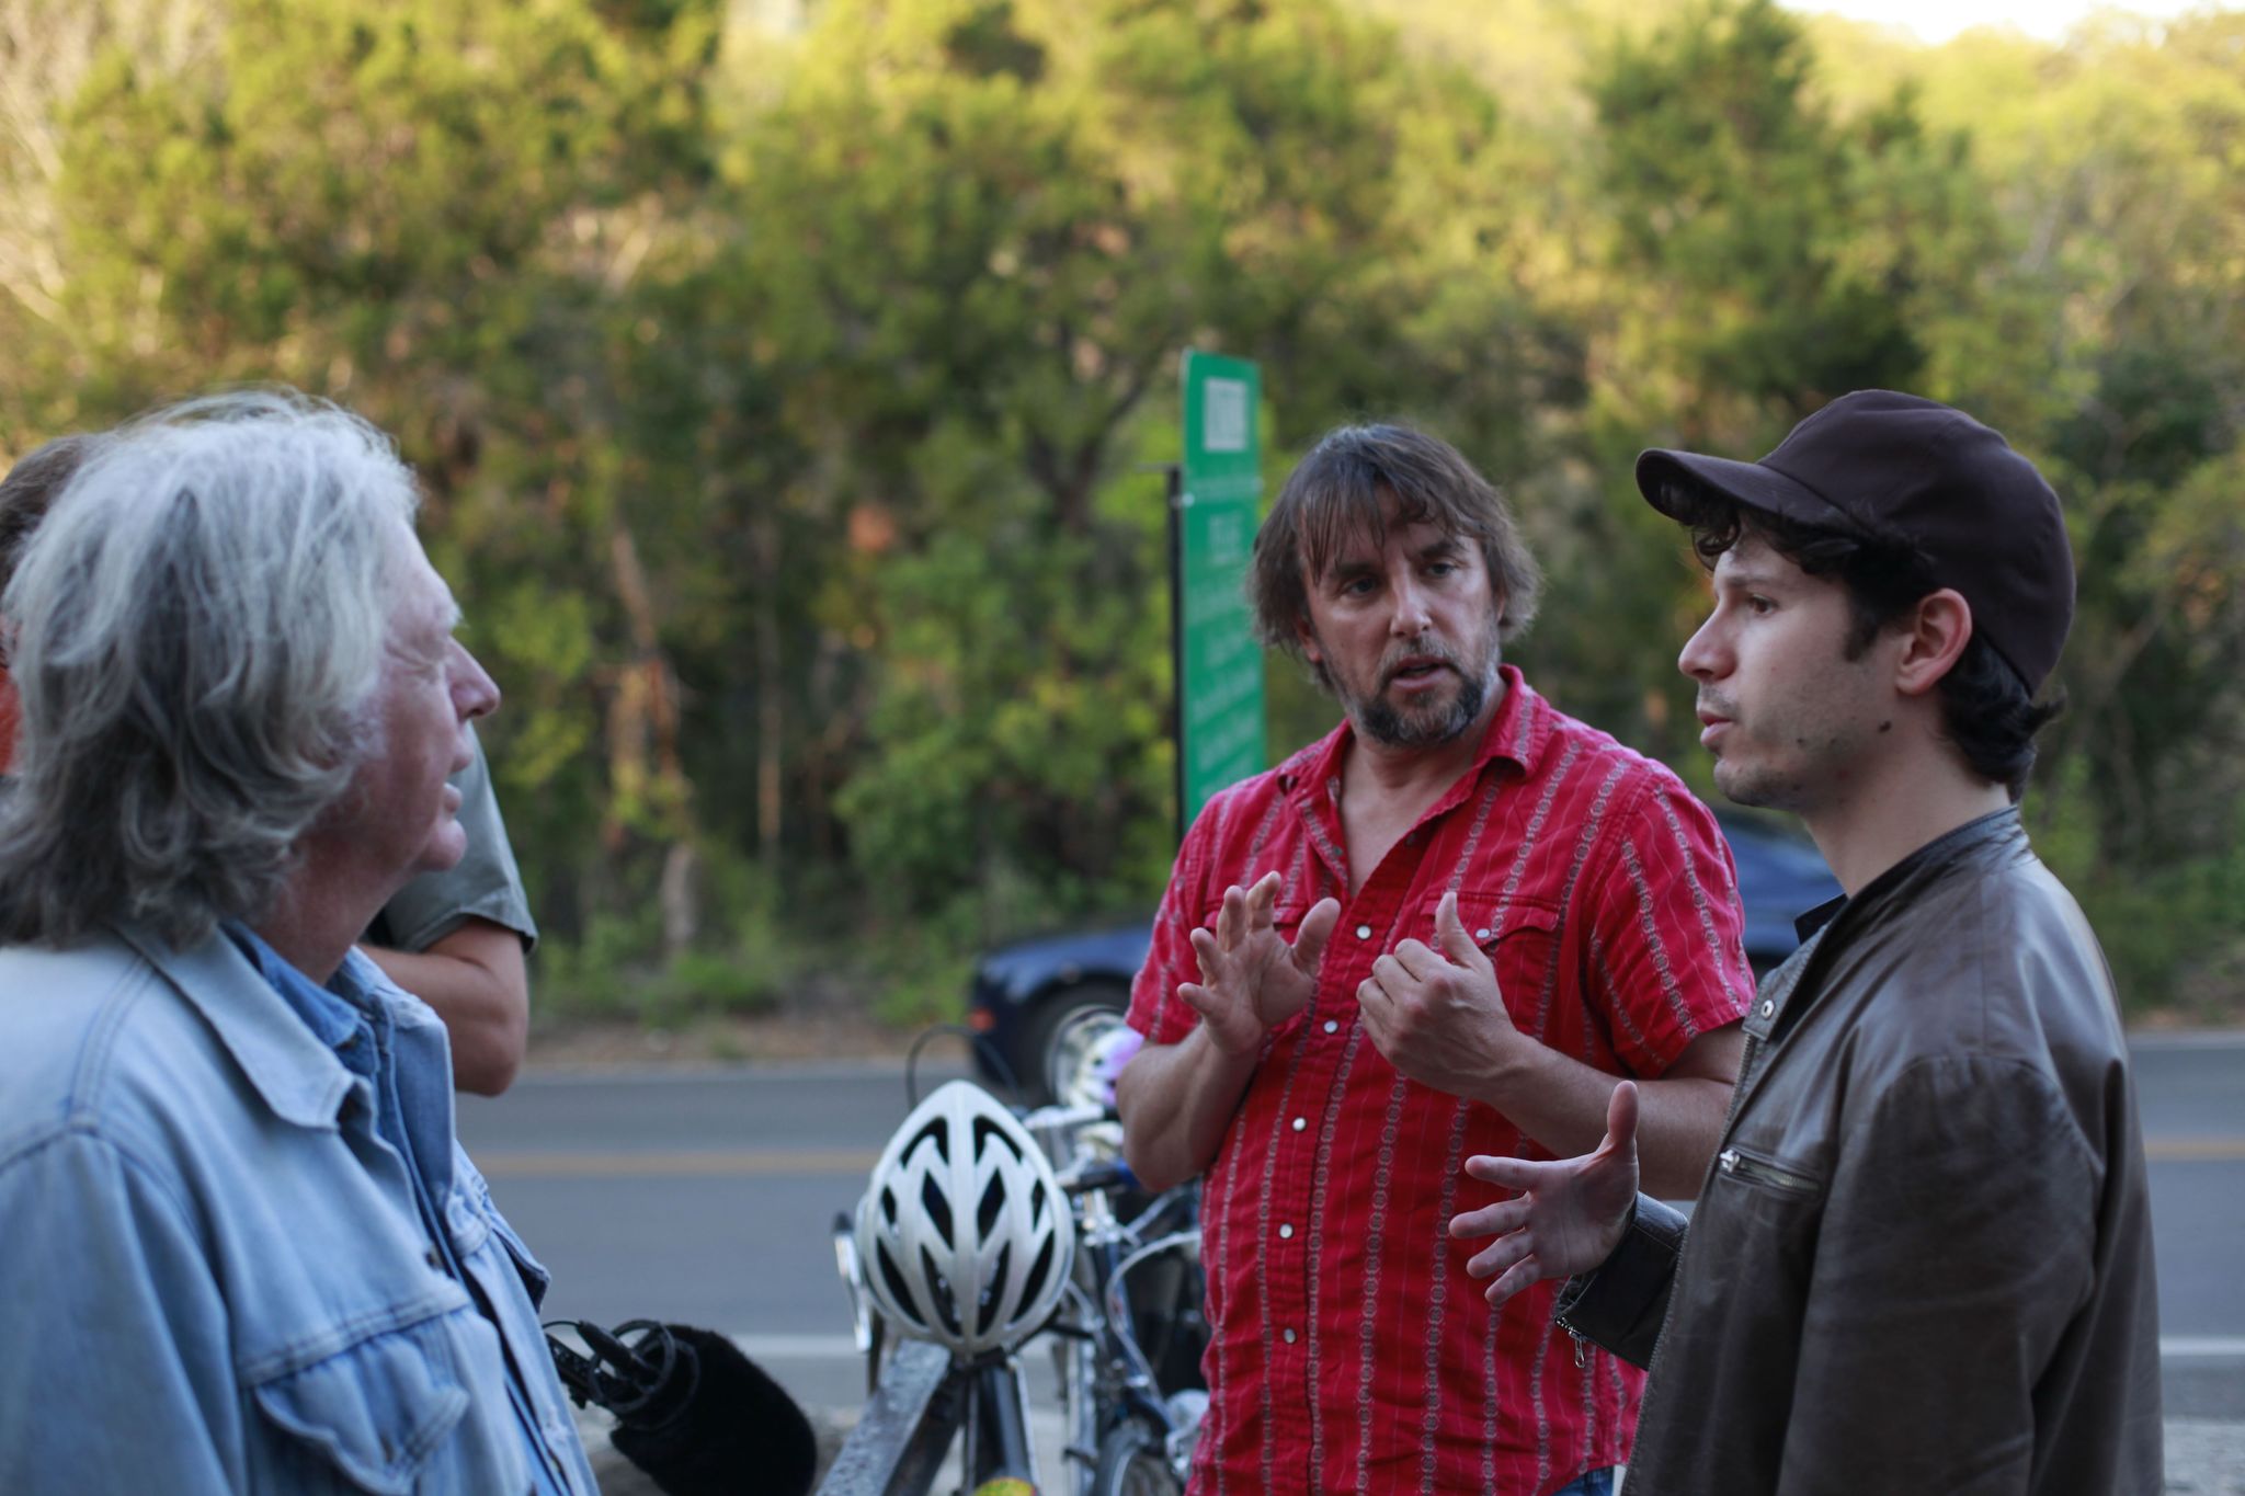
[[[1372,976],[1356,987],[1365,1036],[1421,1086],[1495,1106],[1520,1032],[1504,1012],[1497,969],[1457,915],[1455,893],[1435,906],[1435,940],[1441,951],[1405,940],[1372,962]]]

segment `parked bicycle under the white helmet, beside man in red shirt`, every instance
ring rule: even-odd
[[[1087,1063],[1096,1061],[1093,1047]],[[1051,1312],[979,1343],[961,1328],[983,1319],[988,1285],[977,1287],[972,1303],[959,1303],[959,1294],[941,1285],[952,1292],[945,1319],[941,1292],[914,1296],[927,1283],[909,1281],[914,1274],[898,1272],[894,1258],[882,1267],[864,1252],[864,1216],[885,1184],[885,1169],[900,1144],[925,1144],[929,1108],[954,1088],[972,1090],[992,1108],[972,1124],[977,1135],[1017,1128],[1037,1155],[1030,1173],[1066,1200],[1069,1256]],[[977,1103],[954,1095],[952,1108],[961,1106],[961,1115],[972,1115]],[[954,1081],[914,1108],[876,1166],[858,1218],[835,1220],[835,1265],[849,1290],[858,1346],[867,1352],[869,1404],[819,1487],[822,1496],[920,1496],[934,1489],[954,1447],[965,1476],[961,1489],[990,1489],[999,1480],[1033,1489],[1037,1462],[1019,1352],[1037,1335],[1051,1337],[1060,1382],[1066,1489],[1073,1496],[1183,1492],[1208,1402],[1199,1386],[1206,1346],[1199,1195],[1190,1186],[1143,1195],[1122,1164],[1120,1142],[1107,1103],[1046,1106],[1015,1117],[988,1092]],[[894,1178],[889,1182],[894,1189]],[[900,1281],[885,1281],[876,1292],[869,1276],[876,1272],[898,1272]],[[885,1312],[885,1299],[900,1312]]]

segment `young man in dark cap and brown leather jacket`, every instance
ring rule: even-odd
[[[1845,897],[1765,982],[1686,1222],[1637,1195],[1637,1097],[1453,1220],[1502,1303],[1652,1366],[1630,1496],[2157,1492],[2160,1343],[2110,973],[2018,821],[2072,624],[2059,500],[1980,422],[1863,390],[1760,462],[1648,451],[1715,610],[1679,666],[1733,801]],[[1655,1355],[1657,1350],[1657,1355]]]

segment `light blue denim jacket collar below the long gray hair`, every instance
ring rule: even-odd
[[[352,1074],[231,940],[211,931],[177,951],[137,924],[119,922],[117,933],[202,1014],[274,1117],[335,1128]]]

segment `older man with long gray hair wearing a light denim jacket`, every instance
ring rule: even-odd
[[[386,437],[92,453],[0,615],[0,1489],[595,1492],[442,1023],[352,951],[498,691]]]

